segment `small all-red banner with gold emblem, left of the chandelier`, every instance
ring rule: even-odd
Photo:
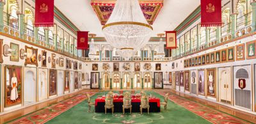
[[[88,49],[88,31],[77,31],[77,49]]]

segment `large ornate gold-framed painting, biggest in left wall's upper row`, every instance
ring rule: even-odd
[[[38,66],[38,63],[37,63],[37,49],[34,49],[33,47],[25,46],[25,50],[26,50],[26,53],[27,53],[25,66],[28,65],[28,64]]]

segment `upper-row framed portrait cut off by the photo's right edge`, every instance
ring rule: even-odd
[[[246,43],[246,59],[256,58],[255,45],[256,45],[255,41]]]

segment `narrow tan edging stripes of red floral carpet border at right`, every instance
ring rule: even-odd
[[[188,98],[182,97],[182,96],[180,96],[180,95],[176,95],[175,93],[172,93],[171,91],[155,91],[155,92],[156,92],[156,93],[159,93],[159,95],[161,95],[161,96],[163,96],[163,97],[164,97],[164,94],[165,94],[166,92],[168,92],[168,93],[170,93],[170,94],[172,94],[172,95],[175,95],[175,96],[177,96],[177,97],[180,97],[180,98],[184,98],[184,99],[186,99],[186,100],[189,100]],[[162,94],[162,93],[164,93],[164,94]],[[179,103],[174,102],[170,97],[171,97],[171,96],[169,96],[168,99],[169,99],[171,102],[173,102],[173,103],[175,103],[175,104],[177,104],[177,105],[179,105],[179,106],[181,106],[181,107],[184,107],[184,108],[187,109],[188,111],[193,112],[194,114],[196,114],[196,115],[198,115],[198,116],[204,118],[205,120],[207,120],[207,121],[209,121],[209,122],[211,122],[211,123],[216,123],[216,121],[209,120],[208,118],[205,118],[204,116],[202,116],[202,115],[196,113],[196,112],[193,111],[192,109],[189,109],[189,108],[185,107],[184,105],[180,105]],[[212,108],[212,107],[209,107],[209,106],[207,106],[207,105],[200,104],[199,102],[196,102],[196,101],[193,101],[193,100],[189,100],[189,101],[194,102],[195,104],[198,104],[198,105],[202,105],[202,106],[207,107],[207,108],[209,108],[209,109],[212,109],[213,111],[221,112],[221,113],[224,114],[225,116],[229,116],[230,118],[233,118],[233,119],[235,119],[235,120],[239,120],[239,121],[242,122],[242,123],[252,123],[252,122],[250,122],[250,121],[243,120],[242,118],[238,118],[238,117],[233,116],[233,115],[231,115],[231,114],[228,114],[228,113],[226,113],[226,112],[223,112],[223,111],[214,109],[214,108]]]

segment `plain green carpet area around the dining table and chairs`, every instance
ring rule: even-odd
[[[97,93],[92,97],[94,101],[97,96],[104,95],[107,92]],[[148,94],[152,94],[164,101],[164,97],[153,91],[147,91]],[[93,109],[92,109],[93,110]],[[91,110],[91,111],[92,111]],[[168,108],[164,111],[161,106],[161,112],[159,113],[115,113],[104,114],[88,112],[87,100],[84,100],[80,104],[72,107],[66,112],[63,112],[56,118],[48,121],[47,123],[175,123],[175,124],[198,124],[198,123],[210,123],[209,121],[197,116],[193,112],[190,112],[171,101],[168,101]]]

